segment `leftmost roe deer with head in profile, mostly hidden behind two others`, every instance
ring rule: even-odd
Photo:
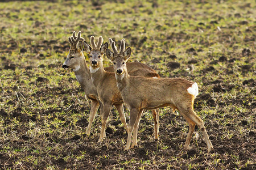
[[[76,75],[77,81],[81,84],[81,87],[85,91],[85,96],[88,97],[92,101],[91,107],[90,107],[90,114],[89,114],[89,124],[86,130],[86,135],[90,135],[90,129],[92,127],[92,122],[94,120],[94,117],[96,116],[96,112],[100,106],[98,100],[97,100],[97,91],[94,87],[94,84],[92,83],[91,76],[90,76],[90,70],[89,67],[86,65],[86,60],[84,57],[84,53],[82,52],[83,46],[82,41],[84,39],[81,37],[81,31],[77,33],[73,32],[72,37],[68,38],[69,44],[71,45],[71,48],[69,49],[69,53],[67,56],[67,59],[63,63],[64,69],[73,69]],[[148,68],[147,65],[141,64],[141,66],[133,66],[134,63],[127,63],[127,70],[138,70],[142,68]],[[138,68],[137,68],[138,67]],[[111,67],[105,67],[106,71],[114,71],[113,66]],[[103,109],[101,109],[103,111]]]

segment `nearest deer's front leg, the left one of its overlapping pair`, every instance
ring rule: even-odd
[[[129,150],[129,148],[130,148],[131,134],[133,133],[134,124],[137,120],[138,113],[139,113],[139,111],[137,109],[135,109],[135,108],[130,109],[130,121],[129,121],[129,126],[128,126],[128,137],[127,137],[125,150]]]

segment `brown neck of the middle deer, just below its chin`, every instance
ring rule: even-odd
[[[93,69],[93,67],[90,66],[90,75],[95,87],[97,87],[101,80],[104,78],[105,72],[106,71],[104,70],[102,63],[100,64],[100,67],[98,67],[97,69]]]

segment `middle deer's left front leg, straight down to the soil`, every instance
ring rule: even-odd
[[[101,143],[103,141],[104,136],[106,137],[106,122],[108,121],[109,113],[110,113],[110,108],[111,104],[103,104],[103,112],[101,114],[101,135],[100,139],[98,139],[98,142]]]

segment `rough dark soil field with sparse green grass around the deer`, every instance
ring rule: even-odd
[[[249,0],[1,2],[0,168],[255,169],[255,14]],[[68,36],[80,30],[86,41],[125,38],[130,61],[197,82],[195,112],[214,149],[196,128],[184,150],[188,124],[168,107],[159,141],[147,111],[138,147],[123,151],[127,133],[114,108],[104,142],[98,114],[87,137],[90,101],[61,68]]]

